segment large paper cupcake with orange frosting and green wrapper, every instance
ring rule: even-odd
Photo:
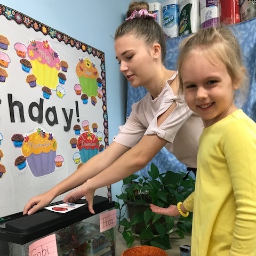
[[[90,58],[79,59],[76,65],[76,75],[78,76],[83,93],[87,94],[89,97],[92,95],[96,96],[99,73]]]

